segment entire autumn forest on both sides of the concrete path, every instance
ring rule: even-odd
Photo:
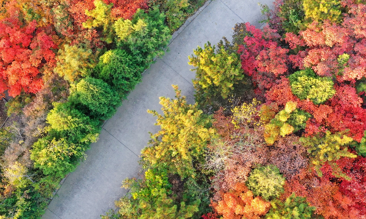
[[[0,218],[40,218],[203,1],[0,3]],[[195,104],[160,97],[143,177],[103,219],[366,218],[366,1],[261,6],[264,28],[188,57]]]

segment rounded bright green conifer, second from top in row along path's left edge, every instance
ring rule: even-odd
[[[98,74],[97,77],[111,85],[121,97],[141,81],[143,66],[139,65],[125,50],[109,50],[99,59],[94,69]]]

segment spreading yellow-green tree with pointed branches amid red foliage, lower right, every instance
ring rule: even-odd
[[[345,177],[345,173],[336,164],[336,161],[341,157],[356,158],[357,155],[348,151],[349,145],[353,139],[342,132],[331,134],[330,131],[325,133],[324,137],[317,134],[314,137],[300,138],[307,151],[310,153],[310,163],[314,166],[315,171],[319,176],[322,176],[320,168],[325,163],[328,163],[333,169],[333,175],[336,177]]]

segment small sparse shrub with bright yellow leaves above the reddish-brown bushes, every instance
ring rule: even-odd
[[[232,108],[231,122],[235,128],[239,128],[239,124],[245,127],[261,126],[263,124],[262,121],[258,121],[258,118],[261,116],[261,111],[258,110],[260,104],[261,102],[254,98],[252,103],[243,103],[240,106]]]

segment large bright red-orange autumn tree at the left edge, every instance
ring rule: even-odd
[[[36,20],[25,23],[12,1],[8,16],[0,20],[0,92],[17,96],[23,90],[36,93],[43,87],[41,73],[55,65],[57,48],[46,30],[36,30]]]

